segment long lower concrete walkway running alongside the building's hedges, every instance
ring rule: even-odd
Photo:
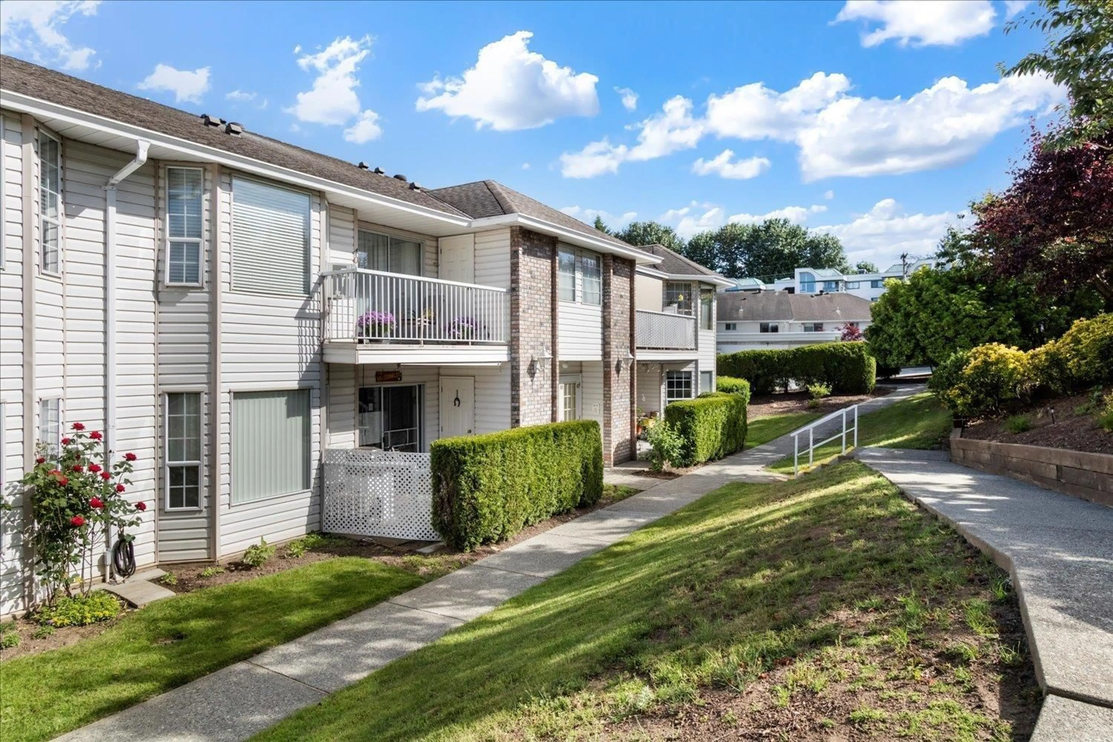
[[[900,388],[870,400],[868,409],[919,392],[922,386]],[[792,439],[782,436],[661,482],[59,740],[246,740],[725,484],[784,478],[762,467],[782,457],[786,447],[791,452]]]

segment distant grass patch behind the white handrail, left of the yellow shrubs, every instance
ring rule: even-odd
[[[943,441],[951,434],[951,412],[934,395],[917,394],[876,413],[861,415],[858,418],[858,447],[942,448]],[[806,445],[807,441],[801,441],[801,446]],[[841,451],[841,443],[837,439],[816,448],[816,465],[834,458]],[[802,471],[808,463],[807,454],[800,461]],[[791,474],[792,457],[786,456],[768,468]]]

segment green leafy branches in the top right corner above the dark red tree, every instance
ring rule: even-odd
[[[1066,88],[1066,126],[1047,141],[1062,149],[1113,132],[1113,0],[1040,0],[1042,14],[1025,14],[1021,26],[1046,37],[1043,51],[1023,57],[1004,75],[1047,75]]]

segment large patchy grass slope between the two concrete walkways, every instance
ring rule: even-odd
[[[660,739],[686,715],[708,739],[769,720],[1006,739],[998,699],[1031,710],[1037,689],[1015,680],[1018,626],[996,636],[1004,584],[858,463],[732,484],[259,739]],[[825,694],[855,705],[817,712]]]

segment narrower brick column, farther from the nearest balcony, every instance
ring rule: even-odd
[[[633,263],[603,256],[603,463],[634,455]]]

